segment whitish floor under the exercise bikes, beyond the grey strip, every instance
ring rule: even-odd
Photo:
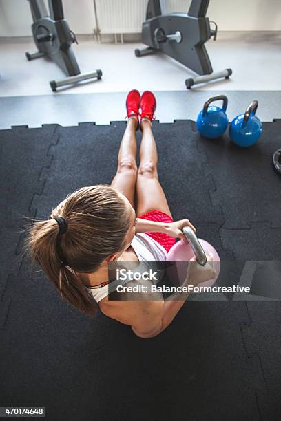
[[[207,50],[214,71],[231,67],[229,80],[216,81],[196,89],[280,90],[281,32],[221,32],[209,41]],[[81,83],[60,94],[123,92],[140,90],[181,91],[185,79],[194,76],[186,67],[163,54],[134,56],[141,43],[96,43],[80,36],[74,52],[81,72],[102,69],[103,79]],[[53,95],[49,80],[63,78],[63,72],[45,58],[28,62],[25,52],[34,52],[30,39],[0,39],[0,96]]]

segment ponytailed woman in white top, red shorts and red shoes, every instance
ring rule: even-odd
[[[83,187],[67,195],[50,219],[32,223],[26,247],[61,296],[78,310],[94,316],[96,302],[106,316],[130,325],[141,338],[151,338],[171,323],[188,294],[174,294],[166,301],[153,294],[137,301],[112,301],[108,299],[109,264],[116,260],[163,261],[175,238],[185,240],[183,226],[195,228],[188,219],[174,222],[158,180],[152,133],[154,94],[130,91],[126,107],[127,127],[112,184]],[[142,141],[137,168],[138,128]],[[208,260],[204,268],[196,262],[189,265],[186,285],[214,277],[212,259]]]

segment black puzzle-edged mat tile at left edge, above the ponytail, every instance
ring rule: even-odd
[[[1,131],[0,137],[0,226],[21,226],[23,215],[33,217],[30,199],[43,190],[44,169],[50,168],[52,142],[56,143],[56,125],[38,129],[25,126]]]

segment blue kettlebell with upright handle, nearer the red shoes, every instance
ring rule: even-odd
[[[222,108],[210,105],[211,102],[222,100]],[[208,139],[216,139],[225,133],[227,129],[227,97],[216,95],[209,98],[196,120],[196,127],[199,133]]]

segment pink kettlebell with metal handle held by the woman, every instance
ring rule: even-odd
[[[216,277],[208,281],[199,283],[198,286],[214,285],[218,275],[220,274],[220,257],[216,249],[203,239],[198,239],[196,234],[189,226],[183,227],[183,233],[187,237],[188,244],[183,240],[177,241],[176,244],[169,250],[167,261],[176,261],[176,265],[167,266],[167,275],[173,284],[181,285],[187,277],[188,262],[192,257],[196,257],[197,263],[205,266],[207,263],[206,255],[213,255],[214,269],[216,270]],[[187,264],[180,263],[185,261]],[[178,263],[177,263],[178,262]]]

